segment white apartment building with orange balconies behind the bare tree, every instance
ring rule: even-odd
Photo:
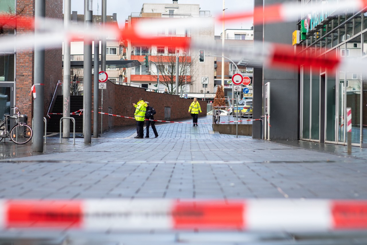
[[[139,13],[131,13],[126,20],[126,28],[140,21],[154,21],[157,19],[167,20],[171,18],[212,18],[210,11],[200,10],[199,4],[143,4]],[[190,28],[177,26],[177,28],[165,28],[162,26],[155,35],[170,36],[172,42],[182,38],[189,38],[193,42],[200,41],[214,44],[214,21],[205,28]],[[159,74],[159,90],[168,88],[175,91],[175,62],[178,52],[179,56],[179,92],[183,93],[213,93],[214,92],[214,57],[205,56],[199,60],[199,50],[183,50],[172,46],[148,46],[144,43],[136,43],[134,40],[123,40],[124,57],[127,60],[139,60],[140,67],[127,68],[125,70],[125,81],[132,86],[141,86],[146,89],[157,89],[157,77]],[[201,50],[205,53],[205,50]],[[208,54],[208,52],[206,53]],[[149,56],[146,67],[145,56]],[[205,85],[206,84],[206,85]],[[205,91],[204,91],[205,90]]]

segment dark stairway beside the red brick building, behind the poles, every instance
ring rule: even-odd
[[[62,95],[58,95],[54,108],[51,113],[62,113],[63,106],[63,98]],[[75,112],[79,109],[83,109],[83,96],[78,95],[70,95],[70,113]],[[83,115],[79,116],[79,113],[76,115],[70,115],[70,117],[75,118],[75,133],[83,133]],[[59,133],[60,132],[60,119],[62,115],[50,115],[51,118],[48,118],[47,123],[47,132],[48,133]],[[66,122],[66,120],[64,120]],[[73,122],[70,120],[70,135],[73,135]]]

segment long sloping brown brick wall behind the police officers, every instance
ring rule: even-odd
[[[107,81],[107,89],[103,90],[103,112],[108,112],[108,107],[112,107],[112,114],[126,117],[134,117],[135,107],[132,103],[137,103],[140,97],[148,101],[157,114],[156,120],[164,120],[164,107],[171,107],[171,121],[190,119],[188,113],[192,99],[182,99],[176,95],[167,95],[163,93],[146,92],[143,88],[131,86],[116,85]],[[101,89],[99,90],[99,106],[101,106]],[[93,101],[93,99],[92,99]],[[207,102],[198,100],[201,107],[200,116],[206,116]],[[101,116],[98,116],[98,124],[101,124]],[[92,120],[93,121],[93,120]],[[129,118],[112,117],[112,127],[121,127],[135,125],[136,121]],[[103,115],[103,130],[108,129],[108,116]],[[101,130],[101,129],[99,129]]]

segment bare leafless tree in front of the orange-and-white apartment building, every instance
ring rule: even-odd
[[[157,56],[157,67],[159,74],[159,82],[164,84],[170,93],[174,93],[176,87],[176,54],[168,54]],[[171,51],[171,50],[170,50]],[[178,86],[181,87],[191,84],[195,81],[193,74],[196,74],[197,66],[192,61],[193,57],[186,56],[186,53],[179,53],[179,69],[178,69]],[[152,76],[157,79],[156,74]],[[188,80],[188,76],[190,79]],[[186,92],[186,91],[185,91]]]

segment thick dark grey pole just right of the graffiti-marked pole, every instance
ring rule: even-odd
[[[84,0],[84,26],[86,30],[91,30],[92,25],[92,6],[88,5],[91,0]],[[84,38],[84,92],[83,92],[83,136],[84,143],[91,143],[91,125],[92,125],[92,40],[90,38]]]

